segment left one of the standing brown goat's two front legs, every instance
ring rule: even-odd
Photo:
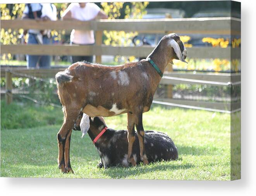
[[[128,129],[128,162],[130,162],[132,166],[135,166],[136,162],[132,156],[132,146],[135,141],[134,118],[133,118],[133,115],[130,113],[127,113],[127,129]]]

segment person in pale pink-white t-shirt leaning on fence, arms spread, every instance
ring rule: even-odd
[[[62,15],[63,20],[88,21],[108,19],[108,16],[95,3],[70,3]],[[91,45],[95,43],[94,32],[73,29],[70,34],[71,44]],[[93,56],[72,56],[73,63],[78,61],[92,62]]]

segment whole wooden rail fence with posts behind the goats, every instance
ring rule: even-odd
[[[4,29],[55,29],[55,30],[94,30],[96,36],[96,44],[94,46],[78,46],[68,44],[53,44],[53,45],[2,45],[1,54],[29,54],[29,55],[96,55],[96,62],[101,63],[101,55],[121,55],[121,56],[148,56],[153,50],[151,46],[140,47],[115,47],[105,46],[102,44],[102,34],[107,31],[137,31],[146,33],[163,33],[168,34],[175,32],[177,34],[219,34],[219,35],[241,35],[241,20],[232,17],[218,18],[189,18],[189,19],[118,19],[118,20],[95,20],[90,22],[82,21],[35,21],[35,20],[1,20],[1,28]],[[212,48],[212,47],[192,47],[187,48],[189,58],[223,58],[223,59],[240,59],[240,48]],[[51,69],[51,74],[55,75],[57,71]],[[15,69],[15,72],[26,72],[27,75],[38,77],[52,77],[43,75],[44,70],[24,70]],[[165,72],[165,77],[161,84],[211,84],[211,85],[234,85],[239,84],[241,76],[239,74],[177,74],[173,73],[172,67],[168,67]],[[13,70],[14,72],[14,70]],[[45,72],[46,73],[46,72]],[[49,73],[49,72],[48,72]],[[15,75],[8,70],[1,69],[1,77],[6,77],[6,96],[7,101],[11,101],[11,77]],[[9,82],[8,82],[9,81]],[[230,81],[234,82],[230,83]],[[209,83],[210,82],[210,83]],[[8,85],[9,84],[9,85]],[[170,88],[169,90],[171,90]],[[174,102],[172,93],[168,96],[167,102]],[[184,104],[184,101],[182,102]],[[186,104],[186,103],[185,103]],[[187,102],[188,105],[201,104],[210,108],[223,109],[227,108],[239,109],[239,104],[232,107],[227,105],[206,103],[203,102]],[[212,105],[209,105],[212,104]]]

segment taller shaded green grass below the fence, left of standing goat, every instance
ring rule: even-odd
[[[62,118],[62,110],[53,106],[39,106],[24,102],[6,105],[5,100],[1,101],[1,131],[61,124]]]

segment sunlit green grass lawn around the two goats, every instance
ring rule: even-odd
[[[1,102],[1,177],[230,180],[230,114],[152,107],[143,115],[144,129],[167,133],[179,159],[129,168],[98,169],[100,158],[89,136],[73,131],[74,174],[58,169],[56,135],[62,118],[59,108]],[[126,115],[106,122],[124,129]]]

